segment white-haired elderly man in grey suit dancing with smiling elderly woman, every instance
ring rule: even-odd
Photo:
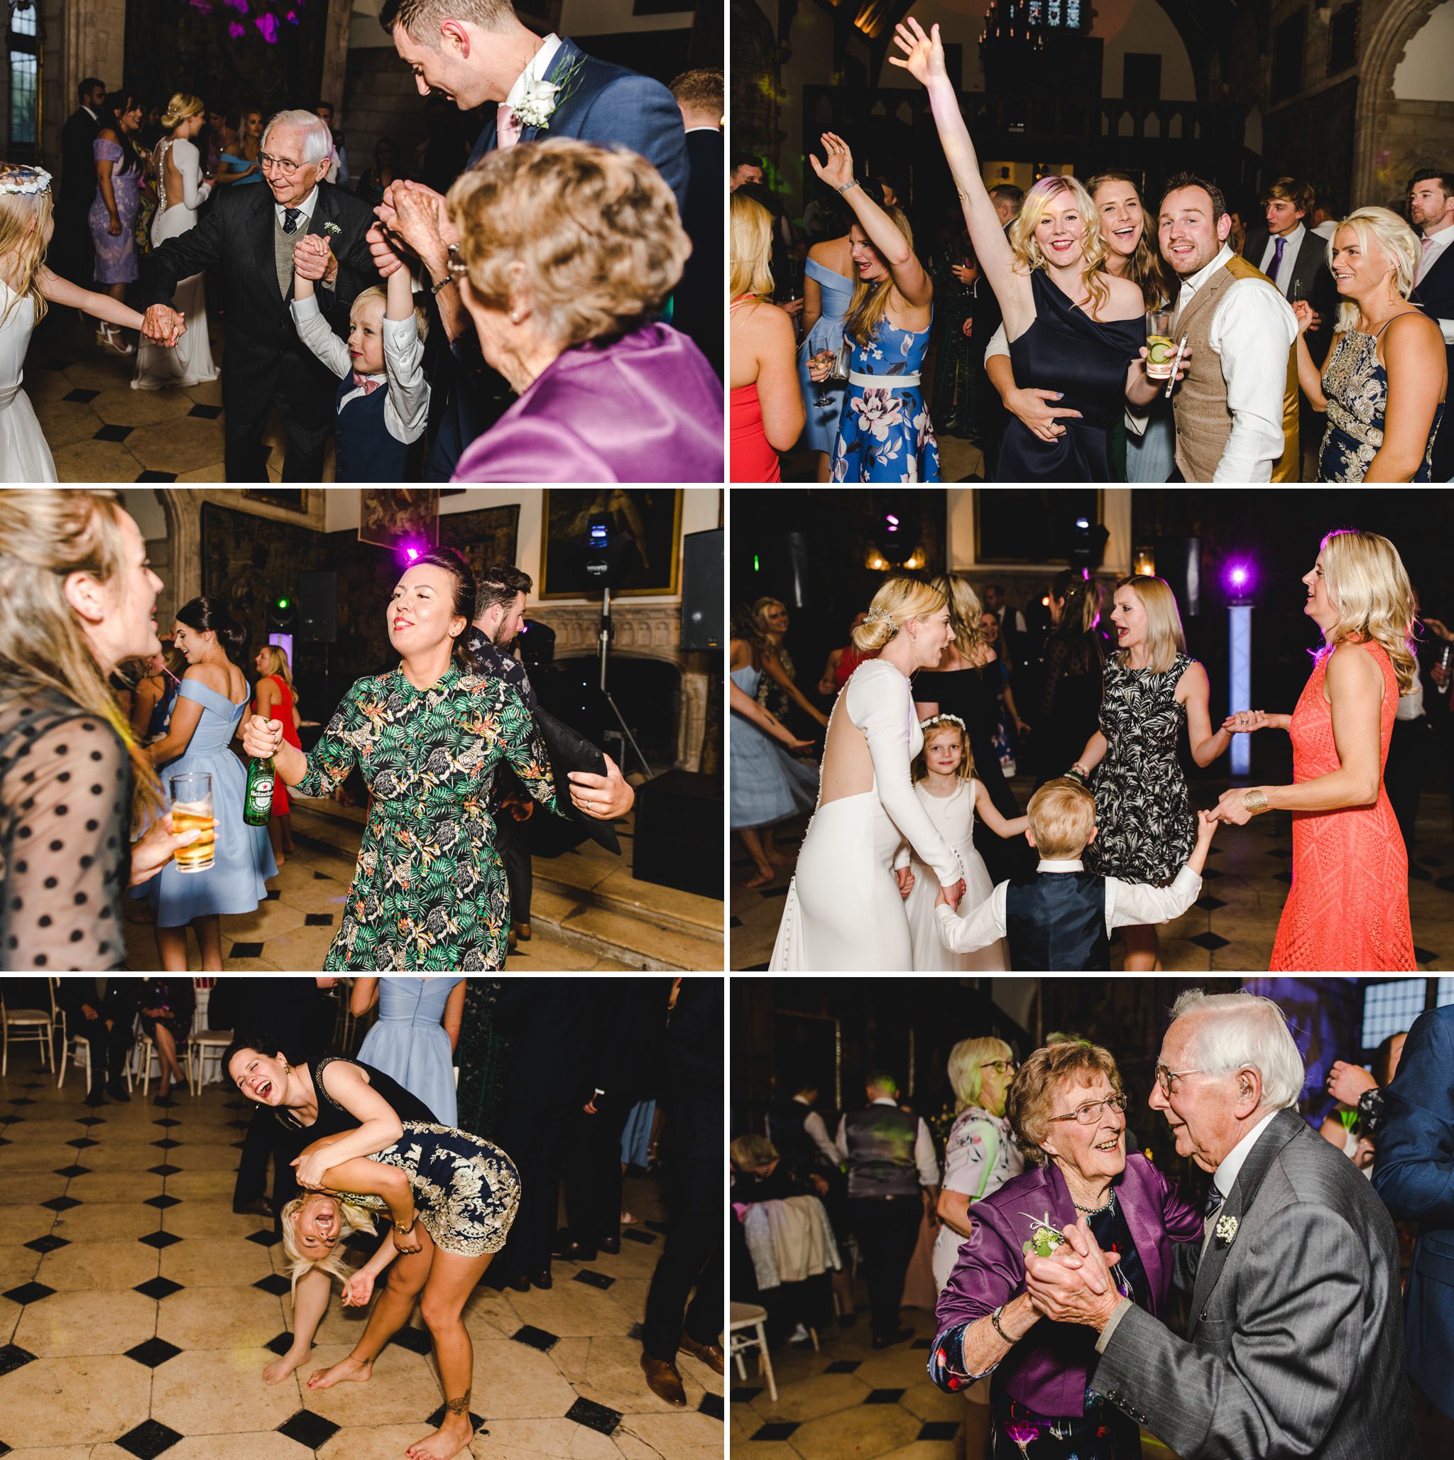
[[[1099,1330],[1092,1386],[1181,1460],[1419,1454],[1393,1221],[1298,1115],[1302,1080],[1270,999],[1177,1002],[1150,1105],[1215,1172],[1184,1339],[1117,1292],[1083,1221],[1026,1261],[1036,1308]]]

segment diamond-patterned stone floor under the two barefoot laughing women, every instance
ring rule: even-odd
[[[245,1111],[207,1086],[169,1107],[82,1104],[29,1051],[0,1080],[0,1456],[7,1460],[403,1460],[441,1393],[428,1334],[406,1329],[368,1384],[309,1393],[362,1314],[334,1304],[314,1359],[261,1371],[292,1308],[272,1225],[232,1212]],[[635,1327],[661,1251],[654,1181],[612,1257],[556,1263],[555,1286],[479,1289],[469,1454],[498,1460],[718,1460],[723,1380],[680,1355],[688,1409],[647,1387]]]

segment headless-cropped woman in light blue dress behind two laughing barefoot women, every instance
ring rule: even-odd
[[[418,1095],[441,1126],[457,1124],[454,1048],[464,1018],[463,978],[356,978],[349,1006],[364,1013],[378,993],[378,1023],[359,1045],[359,1060]]]

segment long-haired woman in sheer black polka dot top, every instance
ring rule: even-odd
[[[124,971],[121,894],[196,840],[131,844],[161,787],[107,688],[161,590],[114,492],[0,492],[0,969]]]

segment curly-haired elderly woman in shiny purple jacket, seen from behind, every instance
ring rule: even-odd
[[[455,482],[721,482],[721,381],[658,318],[692,245],[645,158],[521,142],[461,174],[448,212],[460,301],[520,397]]]

